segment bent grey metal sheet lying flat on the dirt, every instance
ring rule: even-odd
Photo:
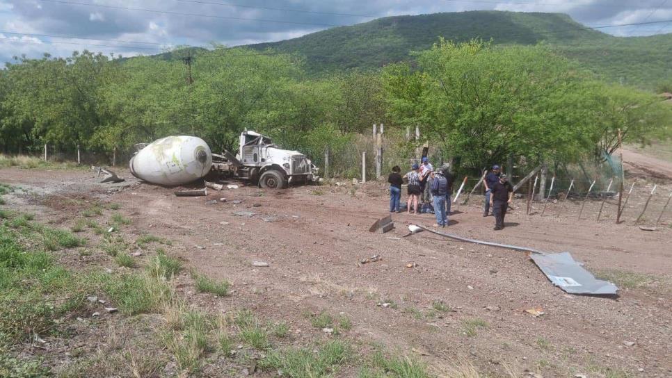
[[[618,288],[611,282],[596,279],[582,268],[569,252],[530,254],[534,263],[555,285],[570,294],[616,295]]]

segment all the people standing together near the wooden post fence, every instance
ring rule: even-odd
[[[390,213],[401,213],[401,186],[403,179],[408,182],[408,199],[406,210],[410,214],[419,214],[422,206],[431,204],[436,215],[434,227],[446,227],[450,214],[451,195],[454,178],[450,174],[448,165],[442,165],[438,170],[429,163],[424,156],[422,164],[413,164],[411,170],[401,175],[401,168],[392,167],[392,173],[387,177],[390,183]],[[486,189],[485,211],[483,217],[495,216],[495,230],[504,228],[504,216],[513,200],[513,186],[509,183],[506,174],[502,174],[499,165],[493,165],[493,170],[483,180]]]

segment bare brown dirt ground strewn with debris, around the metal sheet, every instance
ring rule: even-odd
[[[504,374],[506,365],[544,377],[672,375],[670,227],[646,232],[630,224],[577,221],[579,204],[570,203],[560,218],[557,204],[545,217],[514,211],[506,217],[508,227],[493,231],[493,217],[482,217],[477,204],[454,206],[451,233],[571,252],[589,270],[625,285],[618,299],[609,299],[564,293],[520,252],[430,233],[402,238],[407,224],[433,224],[433,215],[394,214],[396,229],[369,233],[387,215],[385,188],[377,183],[282,191],[243,187],[178,198],[171,189],[132,181],[110,191],[83,171],[0,170],[0,181],[38,193],[37,199],[20,200],[54,222],[74,222],[80,211],[59,206],[63,198],[84,195],[121,204],[133,222],[124,231],[129,236],[150,231],[174,240],[171,253],[210,277],[232,281],[233,295],[216,299],[191,294],[184,281],[179,290],[192,302],[214,311],[247,307],[284,318],[294,343],[316,337],[303,313],[329,311],[353,320],[347,337],[421,355],[437,370],[466,358],[493,375]],[[220,197],[227,202],[207,204]],[[525,208],[522,202],[517,206]],[[254,215],[234,215],[238,211]],[[359,264],[376,254],[382,261]],[[253,261],[269,267],[255,268]],[[417,266],[406,268],[408,263]],[[451,310],[433,309],[441,301]],[[533,308],[545,314],[524,312]]]

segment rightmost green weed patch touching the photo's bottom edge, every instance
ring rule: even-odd
[[[429,378],[427,366],[411,356],[385,356],[378,350],[371,359],[371,370],[360,371],[360,378],[364,377],[395,377],[395,378]]]

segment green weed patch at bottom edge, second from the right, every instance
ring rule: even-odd
[[[259,360],[264,370],[282,370],[283,375],[293,378],[330,377],[339,365],[346,363],[352,354],[351,347],[341,340],[331,340],[322,345],[317,353],[309,349],[286,348],[274,350]]]

